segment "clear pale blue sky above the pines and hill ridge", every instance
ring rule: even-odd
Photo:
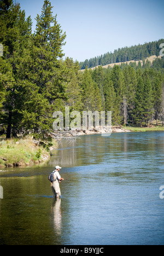
[[[44,0],[16,0],[33,31]],[[51,0],[54,16],[66,31],[65,56],[84,61],[124,46],[164,38],[163,0]]]

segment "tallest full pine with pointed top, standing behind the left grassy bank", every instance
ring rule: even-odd
[[[27,49],[20,69],[28,95],[22,111],[22,125],[32,120],[34,136],[39,133],[45,139],[52,129],[55,100],[66,97],[65,68],[60,60],[66,34],[62,33],[56,16],[52,16],[52,8],[50,1],[45,0],[42,14],[36,18],[36,32],[32,36],[31,47]],[[30,129],[26,126],[27,130]]]

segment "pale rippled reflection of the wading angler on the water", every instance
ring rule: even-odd
[[[52,220],[54,224],[54,231],[57,235],[61,234],[61,223],[62,223],[62,215],[61,215],[61,199],[54,199],[51,207]]]

